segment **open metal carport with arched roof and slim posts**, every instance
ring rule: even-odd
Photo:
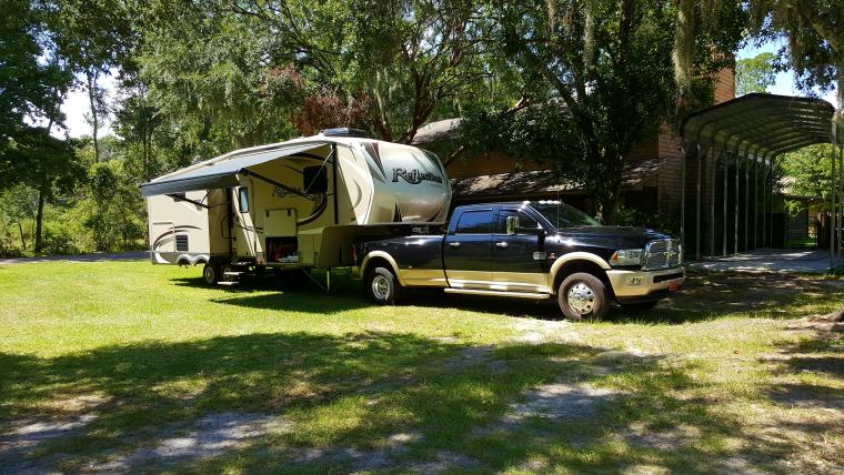
[[[745,251],[771,246],[774,242],[773,172],[776,160],[785,152],[815,143],[833,144],[831,260],[836,252],[841,254],[844,117],[830,102],[821,99],[758,93],[703,109],[683,121],[681,235],[686,249],[694,245],[694,255],[700,260],[702,240],[706,239],[709,255],[716,255],[716,224],[722,231],[719,240],[722,255],[727,255],[730,251],[737,254],[740,246]],[[690,164],[695,173],[692,180],[687,176]],[[723,170],[719,170],[719,165]],[[717,176],[719,172],[723,176]],[[687,194],[686,181],[694,186],[693,196]],[[723,183],[722,196],[716,196],[719,181]],[[705,211],[704,194],[709,198],[709,210]],[[689,215],[686,201],[692,198],[694,214]],[[722,201],[719,205],[720,220],[716,219],[716,199]],[[731,201],[732,210],[729,210]],[[742,201],[744,206],[741,206]],[[694,229],[693,236],[686,234],[690,225]],[[731,226],[733,232],[729,236]],[[834,236],[836,230],[837,243]],[[727,249],[731,241],[732,249]]]

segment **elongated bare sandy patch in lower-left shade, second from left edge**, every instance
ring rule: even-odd
[[[151,464],[175,463],[209,458],[235,448],[244,441],[270,432],[284,431],[288,423],[269,414],[228,412],[209,414],[197,421],[187,433],[175,429],[164,433],[154,447],[139,448],[107,464],[91,467],[94,472],[130,472]]]

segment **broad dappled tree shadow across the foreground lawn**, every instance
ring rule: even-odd
[[[451,364],[455,358],[468,363]],[[232,411],[279,416],[290,429],[248,439],[213,462],[180,461],[167,468],[409,469],[452,454],[446,465],[458,471],[530,468],[539,461],[540,471],[620,472],[649,464],[709,473],[729,468],[723,457],[766,467],[787,453],[787,444],[755,441],[742,433],[741,421],[690,397],[705,390],[691,374],[697,370],[694,363],[579,344],[494,350],[411,334],[250,334],[54,358],[0,354],[0,415],[7,428],[26,417],[93,415],[76,432],[27,452],[34,462],[63,454],[59,468],[71,472],[138,446],[154,447],[205,414]],[[525,391],[552,383],[583,394],[606,387],[614,396],[583,416],[502,422]],[[96,402],[82,408],[56,403],[91,395]],[[667,447],[633,432],[680,425],[692,435],[669,437]],[[383,452],[396,434],[408,442],[401,451]],[[724,448],[725,437],[743,444]]]

